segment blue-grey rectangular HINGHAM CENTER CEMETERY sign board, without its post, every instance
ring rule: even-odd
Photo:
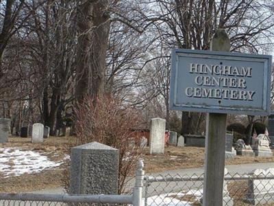
[[[271,56],[173,49],[170,107],[269,115]]]

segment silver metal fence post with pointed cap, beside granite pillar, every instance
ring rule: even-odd
[[[142,187],[144,187],[144,176],[145,171],[144,162],[142,159],[138,160],[137,163],[137,170],[136,170],[136,179],[135,179],[135,186],[133,192],[133,206],[141,206],[142,205]]]

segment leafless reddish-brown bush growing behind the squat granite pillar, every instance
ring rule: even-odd
[[[142,152],[140,139],[132,138],[132,128],[139,125],[138,112],[120,100],[104,95],[96,100],[85,98],[77,106],[75,119],[77,144],[97,141],[119,149],[119,194],[125,193],[125,185]]]

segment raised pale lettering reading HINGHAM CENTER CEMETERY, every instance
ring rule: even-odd
[[[195,77],[197,87],[187,87],[185,89],[185,93],[189,98],[253,101],[253,95],[256,93],[255,91],[242,90],[247,89],[245,78],[252,77],[251,67],[191,63],[189,73],[197,74]]]

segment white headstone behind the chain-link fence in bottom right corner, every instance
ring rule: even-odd
[[[274,177],[274,168],[257,169],[251,175],[259,177]],[[252,205],[272,205],[274,203],[274,179],[249,179],[247,199]]]

